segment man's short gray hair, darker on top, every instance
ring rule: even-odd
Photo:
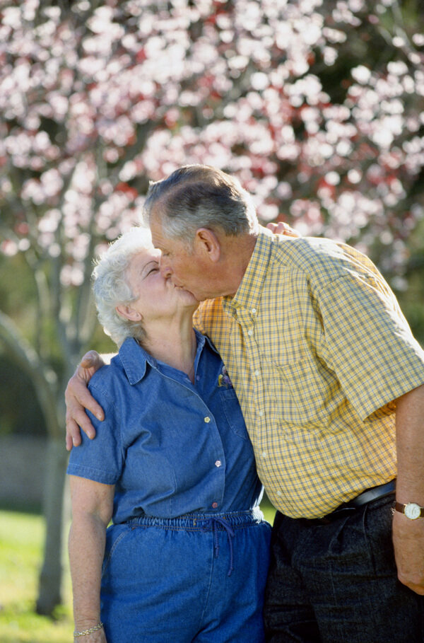
[[[211,166],[184,166],[166,179],[151,182],[144,203],[144,218],[166,218],[163,233],[184,238],[191,245],[198,228],[221,228],[226,235],[257,232],[252,197],[239,181]]]

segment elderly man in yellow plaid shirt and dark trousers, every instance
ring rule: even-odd
[[[389,286],[347,245],[261,228],[208,166],[153,183],[146,218],[163,274],[203,301],[278,509],[268,640],[423,641],[424,352]],[[89,374],[69,385],[69,445],[76,422],[93,436],[76,398],[101,413]]]

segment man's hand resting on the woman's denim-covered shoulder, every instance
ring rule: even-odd
[[[66,386],[66,449],[68,451],[71,451],[72,446],[81,444],[80,427],[90,439],[95,437],[95,429],[85,409],[91,411],[100,420],[105,418],[102,407],[90,395],[87,388],[90,378],[104,364],[98,352],[88,351]]]

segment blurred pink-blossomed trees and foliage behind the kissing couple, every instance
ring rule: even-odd
[[[186,163],[369,254],[424,344],[422,0],[0,0],[0,434],[49,435],[48,533],[93,256]]]

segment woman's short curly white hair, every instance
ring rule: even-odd
[[[98,319],[106,335],[110,335],[118,347],[126,337],[143,340],[146,332],[141,322],[134,322],[119,315],[117,306],[137,299],[126,279],[126,270],[136,253],[152,245],[149,228],[131,228],[110,244],[97,260],[93,270],[93,292]]]

